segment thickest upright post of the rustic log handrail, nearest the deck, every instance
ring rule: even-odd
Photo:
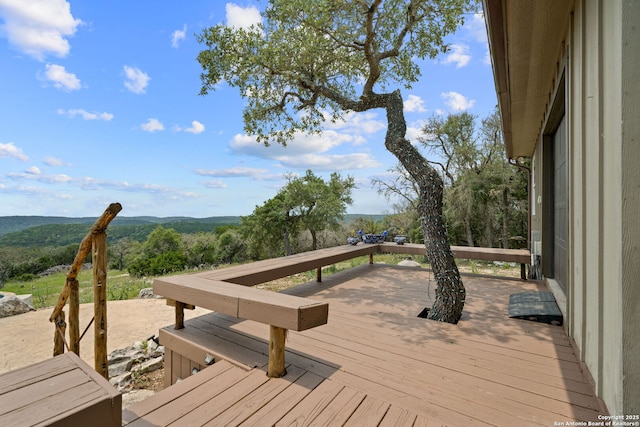
[[[95,369],[109,379],[107,363],[107,233],[93,236],[93,311]]]

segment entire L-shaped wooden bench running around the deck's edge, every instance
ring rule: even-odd
[[[520,262],[522,277],[526,278],[524,266],[530,262],[527,250],[463,246],[452,246],[451,249],[456,258]],[[425,255],[426,249],[424,245],[418,244],[343,245],[202,273],[164,277],[154,281],[154,292],[166,297],[168,303],[175,306],[176,329],[184,327],[184,310],[196,305],[270,325],[269,373],[276,376],[284,373],[286,331],[301,331],[325,324],[328,306],[305,298],[245,286],[254,286],[313,269],[316,269],[316,280],[320,282],[322,267],[366,255],[369,256],[369,262],[373,263],[376,253]],[[188,364],[195,362],[191,360]],[[183,370],[188,371],[186,368]]]

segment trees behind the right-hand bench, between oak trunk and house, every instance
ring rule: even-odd
[[[489,116],[467,112],[433,116],[422,128],[418,147],[440,170],[443,216],[452,245],[524,248],[527,246],[528,161],[509,164],[497,109]],[[422,241],[417,217],[418,188],[397,165],[393,179],[374,179],[378,192],[396,200],[395,222]]]

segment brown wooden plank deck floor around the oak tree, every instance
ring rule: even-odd
[[[543,285],[463,280],[467,301],[458,325],[417,317],[434,294],[424,269],[364,265],[290,289],[328,301],[329,322],[289,333],[288,374],[280,379],[265,375],[268,326],[216,313],[193,319],[183,331],[206,331],[217,353],[234,363],[216,362],[131,406],[123,423],[552,426],[597,420],[600,402],[563,328],[507,317],[509,294],[546,290]]]

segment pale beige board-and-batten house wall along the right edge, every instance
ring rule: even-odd
[[[640,413],[639,10],[639,1],[576,1],[556,76],[565,75],[569,144],[565,327],[612,415]],[[552,84],[545,121],[554,97]],[[544,235],[545,127],[533,156],[534,235]]]

